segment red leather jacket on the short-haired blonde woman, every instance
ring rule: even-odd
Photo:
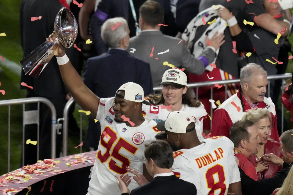
[[[282,158],[282,153],[279,150],[279,147],[280,147],[280,142],[268,140],[268,142],[265,144],[265,154],[273,153],[277,157]],[[256,167],[256,159],[257,158],[255,155],[251,155],[249,157],[249,160],[255,167]],[[276,172],[278,172],[280,169],[282,169],[281,166],[269,164],[268,169],[262,172],[258,172],[257,175],[259,179],[272,178],[273,176],[275,176]]]

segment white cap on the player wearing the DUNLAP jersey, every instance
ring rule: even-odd
[[[195,126],[191,129],[186,129],[187,126],[194,122],[196,119],[183,111],[170,112],[165,121],[161,121],[157,124],[157,129],[160,131],[170,131],[173,133],[188,133],[195,129]]]

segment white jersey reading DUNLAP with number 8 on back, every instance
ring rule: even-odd
[[[172,171],[197,189],[197,195],[227,194],[230,183],[240,181],[234,144],[224,136],[204,139],[202,144],[174,152]]]

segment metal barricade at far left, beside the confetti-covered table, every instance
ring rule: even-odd
[[[37,110],[25,111],[25,104],[38,103]],[[22,137],[22,159],[24,159],[24,126],[26,124],[38,124],[37,129],[37,158],[39,151],[39,107],[40,103],[47,105],[52,113],[52,134],[51,134],[51,157],[56,157],[56,110],[51,101],[46,98],[34,97],[34,98],[20,98],[12,100],[2,100],[0,101],[0,106],[8,105],[8,172],[10,171],[10,108],[11,105],[23,105],[23,137]],[[24,160],[22,161],[22,166],[24,166]]]

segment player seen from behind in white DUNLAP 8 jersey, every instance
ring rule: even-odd
[[[193,183],[197,195],[241,195],[239,169],[234,157],[234,144],[224,136],[200,142],[195,120],[181,111],[171,112],[157,129],[167,133],[174,152],[172,170],[180,179]]]

